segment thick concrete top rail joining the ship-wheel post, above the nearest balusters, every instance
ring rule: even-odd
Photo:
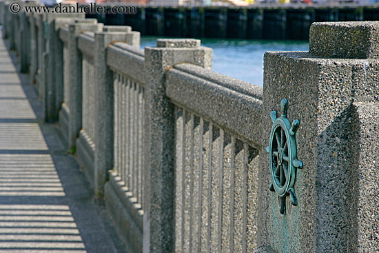
[[[184,63],[166,77],[166,93],[174,103],[260,147],[262,88]]]

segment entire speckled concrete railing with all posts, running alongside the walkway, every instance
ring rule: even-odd
[[[212,72],[196,39],[141,50],[130,27],[0,7],[45,121],[59,121],[132,252],[379,250],[377,22],[315,23],[309,52],[265,54],[262,89]],[[300,125],[271,139],[284,98],[278,118]],[[271,168],[287,176],[288,150],[280,196]]]

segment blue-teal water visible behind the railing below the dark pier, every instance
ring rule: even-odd
[[[141,48],[155,46],[158,37],[141,37]],[[266,51],[308,51],[307,41],[201,39],[213,48],[213,70],[242,81],[263,85],[263,55]]]

